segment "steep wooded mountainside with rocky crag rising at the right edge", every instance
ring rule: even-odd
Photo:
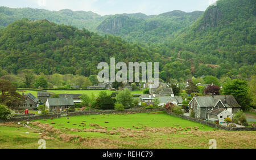
[[[218,73],[220,75],[246,71],[250,73],[244,76],[250,77],[256,71],[255,5],[255,0],[219,0],[195,23],[177,34],[170,46],[181,57],[200,59],[196,62],[196,70],[204,62],[226,68]],[[197,76],[203,74],[202,71]]]

